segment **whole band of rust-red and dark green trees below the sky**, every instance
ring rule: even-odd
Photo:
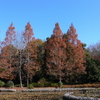
[[[89,40],[92,41],[92,40]],[[74,25],[63,33],[59,23],[45,41],[36,39],[30,23],[16,32],[13,23],[0,43],[0,80],[14,84],[100,82],[100,43],[86,48]]]

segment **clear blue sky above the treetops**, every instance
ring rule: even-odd
[[[36,38],[45,40],[55,23],[66,33],[74,24],[78,39],[87,46],[100,41],[100,0],[0,0],[0,39],[13,22],[23,31],[30,22]]]

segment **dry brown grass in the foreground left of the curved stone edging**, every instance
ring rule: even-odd
[[[62,100],[65,92],[17,92],[0,94],[0,100]]]

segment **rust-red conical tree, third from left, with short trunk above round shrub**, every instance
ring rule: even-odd
[[[58,77],[62,81],[65,63],[65,43],[62,39],[63,33],[58,23],[55,24],[53,34],[46,44],[46,65],[50,75]]]

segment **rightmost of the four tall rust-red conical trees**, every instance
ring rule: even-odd
[[[66,39],[66,40],[65,40]],[[78,40],[78,35],[74,25],[71,24],[64,38],[66,43],[66,73],[67,75],[76,75],[85,72],[85,52],[82,47],[82,43]]]

